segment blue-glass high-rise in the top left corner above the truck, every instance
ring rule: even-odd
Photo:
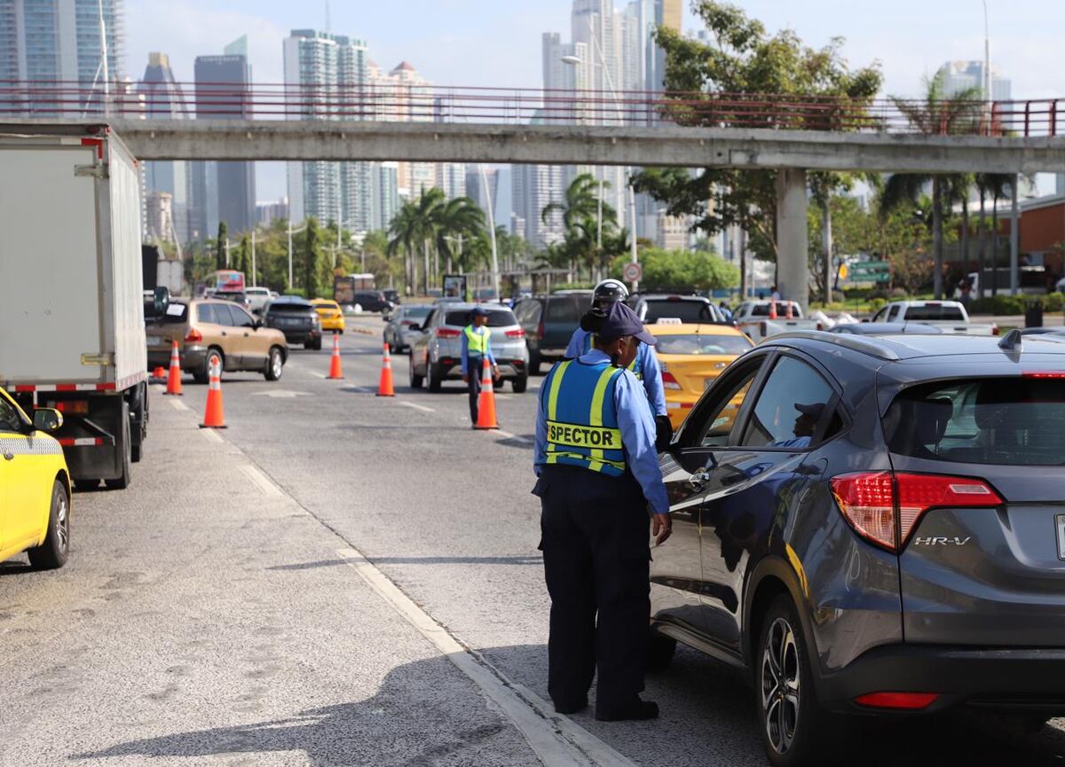
[[[98,103],[104,71],[112,91],[125,74],[124,16],[122,0],[0,0],[0,79],[77,82],[97,94],[85,105]],[[56,104],[26,107],[47,115]]]

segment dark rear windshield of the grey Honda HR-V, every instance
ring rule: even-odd
[[[1065,465],[1065,381],[969,379],[904,390],[884,417],[894,453],[930,461]]]

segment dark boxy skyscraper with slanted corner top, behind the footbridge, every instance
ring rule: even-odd
[[[240,44],[240,40],[237,40]],[[199,120],[250,119],[251,67],[243,53],[197,56],[195,111]],[[256,223],[253,163],[193,164],[193,204],[190,229],[209,237],[225,221],[231,232]]]

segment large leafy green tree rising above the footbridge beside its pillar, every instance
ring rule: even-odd
[[[868,105],[882,82],[879,65],[850,69],[840,53],[841,38],[812,49],[790,30],[770,35],[734,5],[697,0],[693,7],[710,44],[666,28],[656,33],[666,52],[665,89],[675,94],[663,110],[667,119],[776,130],[852,130],[869,119]],[[783,107],[761,106],[765,95],[829,98],[815,116],[802,110],[788,115]],[[695,227],[707,234],[739,226],[750,233],[755,255],[775,260],[775,170],[707,168],[693,174],[686,168],[653,168],[634,181],[637,190],[665,202],[669,215],[694,216]]]

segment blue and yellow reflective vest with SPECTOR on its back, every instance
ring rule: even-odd
[[[621,368],[567,360],[544,381],[547,463],[579,466],[610,477],[625,473],[615,389]]]

